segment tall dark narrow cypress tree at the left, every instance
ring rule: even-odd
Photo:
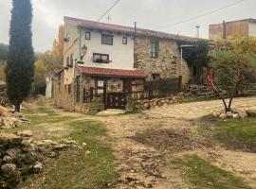
[[[9,101],[20,112],[20,104],[29,94],[34,77],[32,7],[30,0],[12,0],[12,6],[6,81]]]

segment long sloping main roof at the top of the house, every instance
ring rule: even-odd
[[[64,17],[64,21],[70,24],[73,24],[75,26],[84,26],[88,28],[97,28],[102,30],[123,32],[127,34],[134,34],[134,30],[135,30],[134,27],[131,27],[131,26],[110,25],[110,24],[97,23],[94,21],[82,20],[82,19],[66,17],[66,16]],[[137,28],[137,35],[170,39],[170,40],[187,41],[187,42],[196,42],[198,40],[202,40],[198,38],[192,38],[192,37],[187,37],[182,35],[174,35],[166,32],[155,31],[155,30],[144,29],[144,28]]]

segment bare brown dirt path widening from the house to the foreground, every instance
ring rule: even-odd
[[[256,98],[237,98],[234,107],[255,107]],[[219,100],[166,106],[139,114],[85,116],[58,111],[61,115],[83,117],[103,122],[115,150],[120,180],[117,188],[183,189],[190,184],[167,161],[192,153],[242,176],[256,188],[256,154],[229,151],[208,146],[197,134],[192,120],[219,109]],[[165,150],[166,146],[171,146]],[[172,148],[174,147],[174,148]],[[174,150],[175,149],[175,150]],[[180,151],[176,153],[176,150]],[[173,152],[175,151],[175,152]]]

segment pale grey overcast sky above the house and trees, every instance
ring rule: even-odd
[[[64,16],[98,20],[116,0],[32,0],[33,45],[35,51],[46,51],[52,46],[58,26]],[[214,12],[181,25],[172,26],[220,9],[239,0],[121,0],[111,11],[111,24],[138,27],[195,36],[195,26],[200,26],[200,37],[208,38],[210,24],[245,18],[256,18],[256,0],[246,0],[236,6]],[[0,0],[0,43],[9,43],[11,0]],[[103,18],[101,22],[107,22]]]

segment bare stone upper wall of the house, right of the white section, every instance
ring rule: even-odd
[[[151,58],[151,42],[158,42],[158,56]],[[158,40],[138,36],[135,44],[135,67],[144,71],[148,79],[152,74],[159,74],[161,78],[183,77],[186,83],[190,77],[190,69],[185,60],[182,60],[177,43],[171,40]]]

